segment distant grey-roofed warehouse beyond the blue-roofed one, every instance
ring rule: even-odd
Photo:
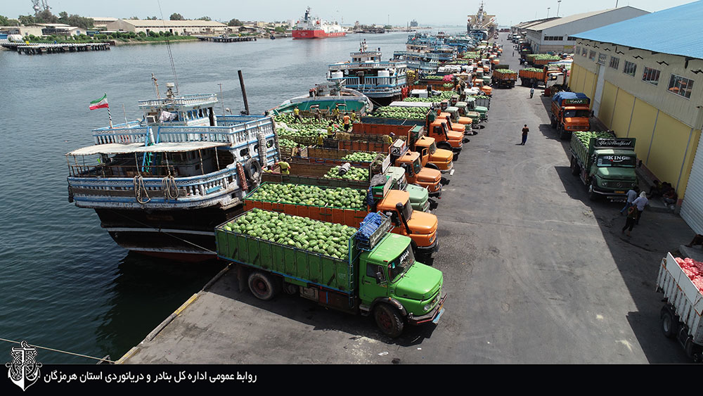
[[[610,8],[531,24],[522,27],[522,30],[526,32],[525,39],[533,53],[571,53],[576,39],[574,34],[645,14],[647,11],[631,6]]]

